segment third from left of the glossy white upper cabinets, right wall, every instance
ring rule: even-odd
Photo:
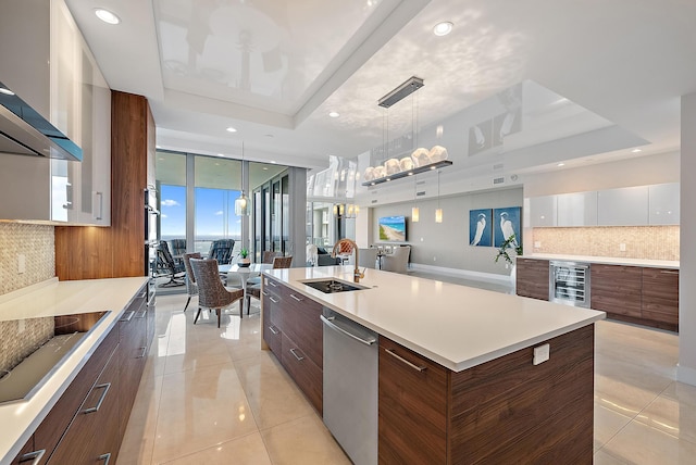
[[[623,187],[597,192],[599,226],[648,225],[648,186]]]

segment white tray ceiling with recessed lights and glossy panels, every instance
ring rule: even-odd
[[[110,87],[149,99],[171,150],[238,156],[244,140],[249,160],[325,167],[383,143],[376,101],[417,75],[421,126],[532,81],[555,97],[504,151],[586,134],[634,156],[602,149],[613,128],[644,155],[679,149],[680,97],[696,91],[693,0],[66,1]],[[439,21],[453,32],[434,36]],[[549,163],[533,158],[519,168]]]

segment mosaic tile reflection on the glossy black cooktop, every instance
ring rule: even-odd
[[[0,322],[0,378],[53,337],[54,319]]]

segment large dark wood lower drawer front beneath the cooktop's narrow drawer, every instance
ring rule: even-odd
[[[49,464],[114,464],[119,430],[119,381],[121,370],[115,354],[104,367],[51,454]]]

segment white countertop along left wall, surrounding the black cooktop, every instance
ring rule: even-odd
[[[9,464],[121,317],[147,277],[51,279],[0,297],[0,319],[111,311],[30,399],[0,404],[0,465]]]

